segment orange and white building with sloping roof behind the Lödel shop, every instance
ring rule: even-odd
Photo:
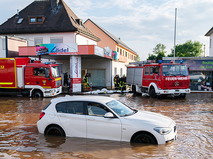
[[[113,51],[112,74],[120,77],[126,75],[126,65],[137,61],[137,53],[129,48],[120,38],[117,38],[91,19],[87,19],[84,25],[97,37],[102,39],[97,45]]]

